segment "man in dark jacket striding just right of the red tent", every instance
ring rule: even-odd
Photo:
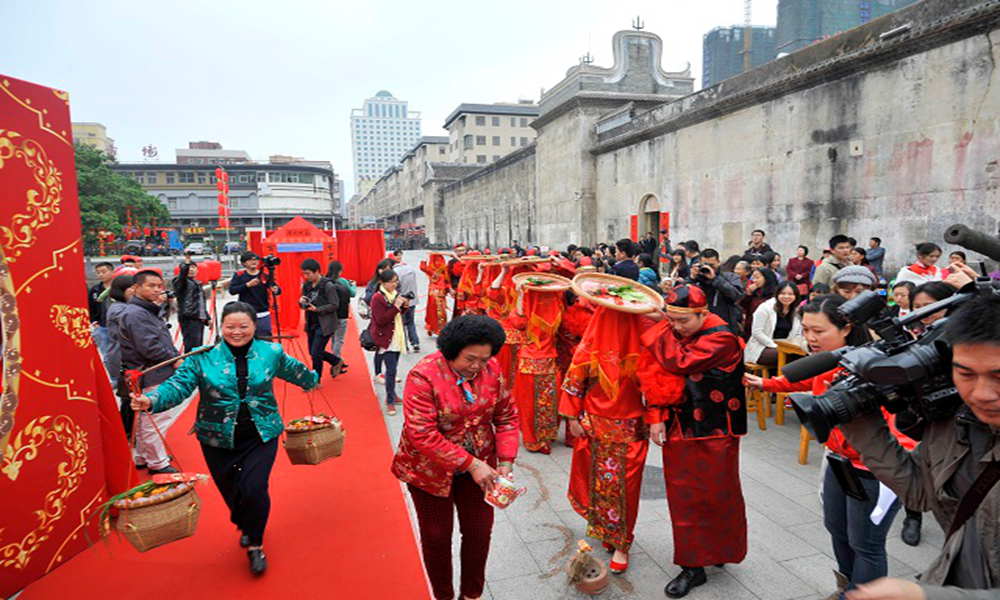
[[[302,284],[302,296],[299,306],[306,311],[306,336],[309,339],[309,356],[312,357],[313,370],[322,379],[323,362],[330,365],[330,376],[340,374],[340,357],[326,350],[330,338],[337,332],[337,310],[340,308],[340,297],[337,286],[323,277],[319,262],[307,258],[300,265],[305,283]]]

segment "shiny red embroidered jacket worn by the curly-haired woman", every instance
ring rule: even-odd
[[[496,466],[517,457],[517,406],[490,359],[467,382],[475,402],[458,386],[458,374],[435,352],[411,370],[403,390],[403,433],[392,474],[435,496],[448,496],[455,473],[473,458]]]

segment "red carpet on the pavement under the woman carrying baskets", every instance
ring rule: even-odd
[[[287,344],[301,359],[305,339]],[[283,449],[271,474],[268,571],[253,578],[228,511],[209,481],[198,486],[198,530],[140,554],[123,539],[98,543],[36,581],[21,599],[64,598],[429,598],[392,448],[365,368],[354,322],[344,359],[350,371],[323,376],[323,392],[343,419],[344,454],[316,466],[291,465]],[[283,382],[275,383],[282,403]],[[314,399],[318,412],[325,403]],[[188,471],[208,473],[193,435],[196,402],[171,428],[168,443]],[[285,419],[308,413],[306,394],[288,386]]]

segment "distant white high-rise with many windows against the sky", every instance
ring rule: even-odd
[[[351,110],[354,189],[374,181],[420,141],[420,113],[382,90]]]

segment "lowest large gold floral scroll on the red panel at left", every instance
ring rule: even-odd
[[[45,503],[35,511],[38,525],[20,541],[0,546],[0,567],[27,566],[32,553],[49,539],[66,511],[66,499],[80,487],[87,472],[87,432],[66,415],[44,415],[29,421],[7,445],[0,473],[16,481],[24,463],[36,458],[39,448],[50,440],[61,444],[67,456],[57,467],[57,486],[45,495]]]

